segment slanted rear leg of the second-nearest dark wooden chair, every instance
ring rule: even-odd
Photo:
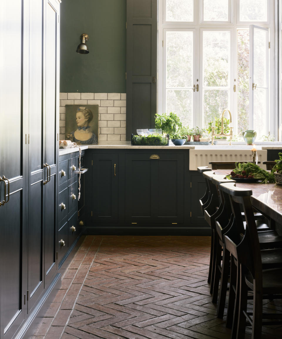
[[[227,251],[225,247],[223,247],[220,289],[219,289],[219,298],[218,298],[218,306],[217,306],[217,317],[218,318],[223,318],[223,314],[224,314],[228,277],[229,277],[229,272],[230,272],[229,265],[230,265],[230,252]]]

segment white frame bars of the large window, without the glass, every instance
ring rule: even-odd
[[[281,41],[279,40],[279,43],[275,38],[277,36],[281,37],[281,32],[278,31],[278,21],[275,22],[275,17],[280,16],[281,14],[276,14],[274,11],[274,8],[278,8],[278,3],[280,3],[280,11],[281,11],[281,0],[275,0],[270,1],[267,0],[268,4],[268,18],[269,23],[265,22],[239,22],[239,1],[232,0],[232,13],[233,13],[233,23],[222,23],[222,22],[215,22],[215,23],[201,23],[200,22],[200,1],[194,0],[194,15],[195,11],[197,11],[196,17],[194,17],[193,23],[184,23],[184,22],[166,22],[163,17],[164,15],[164,6],[166,5],[166,0],[158,0],[159,5],[159,24],[158,24],[158,113],[162,114],[165,112],[165,106],[164,106],[164,100],[165,100],[165,90],[164,90],[164,73],[163,73],[163,66],[164,66],[164,45],[165,45],[165,35],[164,35],[164,29],[185,29],[185,28],[194,28],[196,33],[196,60],[199,58],[201,59],[201,62],[197,62],[197,65],[195,65],[196,73],[195,73],[195,79],[199,79],[199,94],[197,98],[194,101],[193,108],[194,112],[197,112],[197,114],[193,115],[193,126],[202,124],[201,121],[203,121],[203,107],[202,107],[202,54],[201,54],[201,30],[226,30],[226,29],[232,29],[233,30],[233,37],[231,37],[231,40],[233,39],[233,46],[230,47],[230,55],[233,56],[233,63],[230,65],[231,74],[233,72],[234,77],[233,79],[236,79],[236,87],[237,87],[237,29],[248,29],[250,24],[255,24],[258,26],[262,26],[265,28],[269,28],[269,40],[270,40],[270,52],[269,52],[269,63],[270,63],[270,69],[269,69],[269,112],[268,112],[268,121],[269,121],[269,131],[270,134],[274,134],[276,136],[276,139],[280,139],[282,137],[282,128],[281,128],[281,119],[282,119],[282,113],[281,111],[281,88],[280,88],[280,82],[281,82],[281,74],[278,74],[278,65],[281,65],[281,61],[278,57],[278,51],[281,53]],[[270,17],[273,16],[273,20],[270,20]],[[280,24],[281,28],[281,24]],[[275,44],[276,41],[276,44]],[[281,57],[280,57],[281,58]],[[280,66],[281,67],[281,66]],[[233,93],[233,80],[231,78],[230,83],[230,110],[232,113],[232,126],[235,127],[236,123],[236,129],[237,129],[237,93],[234,93],[235,95],[232,95]],[[237,90],[236,90],[237,91]],[[276,97],[277,92],[279,91],[279,102]],[[277,102],[276,102],[277,101]],[[279,111],[278,111],[279,109]],[[279,113],[278,113],[279,112]],[[194,119],[195,117],[195,119]],[[280,125],[279,125],[280,124]],[[234,134],[237,134],[237,132]]]

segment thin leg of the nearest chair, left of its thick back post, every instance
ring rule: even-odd
[[[248,290],[245,284],[244,276],[242,276],[242,267],[239,268],[239,279],[240,279],[240,289],[239,289],[239,308],[238,308],[238,322],[237,322],[237,333],[236,339],[245,338],[246,331],[246,317],[243,312],[247,311],[247,296]],[[238,292],[237,292],[238,293]],[[234,330],[235,326],[234,324]]]

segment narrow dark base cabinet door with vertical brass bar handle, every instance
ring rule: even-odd
[[[118,155],[93,155],[92,221],[118,221]]]

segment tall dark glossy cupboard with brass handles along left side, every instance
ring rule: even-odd
[[[60,2],[0,2],[0,339],[24,337],[59,279]]]

